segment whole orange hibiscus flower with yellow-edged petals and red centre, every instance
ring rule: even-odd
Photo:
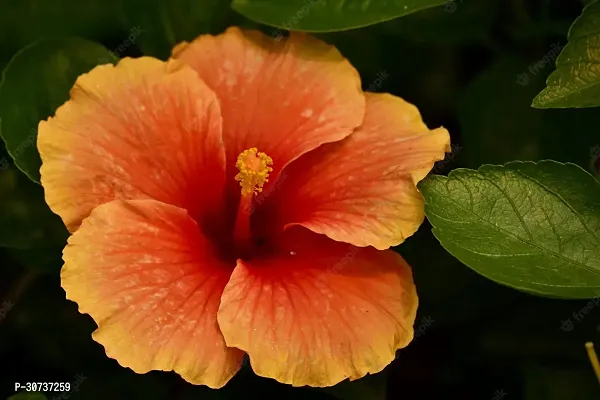
[[[222,387],[330,386],[413,337],[416,183],[449,150],[315,38],[230,28],[82,75],[39,126],[62,286],[106,354]],[[257,150],[258,149],[258,150]],[[263,191],[264,189],[264,191]]]

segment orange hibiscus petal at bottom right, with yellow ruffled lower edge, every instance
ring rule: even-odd
[[[277,250],[238,261],[218,311],[229,346],[254,371],[294,386],[331,386],[381,371],[413,337],[417,294],[391,250],[335,242],[304,228]]]

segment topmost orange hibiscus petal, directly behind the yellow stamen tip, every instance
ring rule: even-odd
[[[235,160],[256,147],[273,159],[273,183],[290,161],[350,135],[363,120],[360,77],[333,47],[306,34],[277,40],[229,28],[182,43],[173,57],[217,93],[232,189]]]

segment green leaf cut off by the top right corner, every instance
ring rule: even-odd
[[[600,106],[600,2],[588,4],[568,34],[547,87],[533,100],[536,108]]]

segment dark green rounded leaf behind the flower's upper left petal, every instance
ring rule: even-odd
[[[0,136],[15,164],[39,182],[37,127],[69,99],[77,77],[116,61],[102,45],[80,38],[46,39],[19,51],[0,82]]]

